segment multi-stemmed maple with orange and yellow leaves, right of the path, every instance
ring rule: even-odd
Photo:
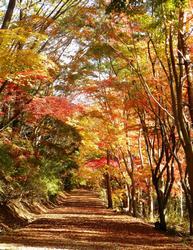
[[[143,6],[141,5],[141,7]],[[71,78],[73,84],[78,84],[75,88],[76,91],[80,91],[81,93],[85,92],[86,95],[89,94],[92,100],[97,100],[102,110],[102,114],[99,114],[99,116],[105,119],[105,121],[107,120],[109,124],[112,124],[111,126],[115,126],[115,131],[120,132],[120,128],[118,128],[119,126],[117,124],[125,124],[125,127],[129,130],[127,123],[130,112],[138,116],[138,121],[133,120],[135,122],[137,121],[137,123],[134,126],[130,126],[130,130],[132,131],[132,128],[135,128],[135,126],[136,128],[138,126],[139,130],[140,126],[144,128],[144,120],[140,120],[140,117],[145,114],[145,121],[148,123],[146,126],[148,127],[148,135],[143,131],[145,139],[144,147],[148,147],[149,149],[147,153],[145,153],[144,150],[143,154],[145,156],[143,155],[142,157],[140,154],[139,158],[142,159],[145,157],[146,164],[148,165],[148,151],[153,152],[155,162],[153,162],[152,165],[150,164],[150,166],[152,166],[153,183],[157,189],[158,201],[163,202],[165,207],[173,192],[172,187],[175,184],[174,175],[175,178],[178,176],[176,171],[179,157],[178,150],[181,147],[181,141],[179,140],[179,135],[177,135],[176,124],[173,120],[170,86],[168,85],[167,75],[164,71],[164,65],[167,64],[164,46],[162,46],[164,41],[161,39],[160,30],[156,33],[155,28],[151,27],[152,19],[149,14],[146,14],[145,6],[144,8],[141,7],[134,10],[134,15],[130,16],[129,20],[127,15],[131,14],[132,8],[126,14],[121,14],[120,16],[115,15],[115,17],[111,15],[110,20],[103,20],[103,22],[101,22],[102,24],[100,24],[100,33],[97,33],[97,28],[90,30],[90,32],[92,31],[94,33],[93,37],[97,34],[97,42],[94,39],[91,40],[89,49],[86,52],[84,51],[84,55],[81,56],[81,61],[79,60],[80,54],[77,53],[77,57],[75,56],[73,63],[69,65],[69,67],[72,67],[72,71],[77,72],[75,77]],[[115,11],[117,11],[117,9],[115,9]],[[98,20],[95,24],[96,27],[97,22]],[[93,23],[92,27],[94,27]],[[104,32],[101,32],[102,30]],[[152,32],[152,34],[150,32]],[[156,42],[160,39],[160,42],[157,42],[156,45],[153,37],[154,32],[157,36]],[[88,40],[87,35],[84,33],[82,34],[82,38],[84,38],[85,41]],[[83,44],[82,40],[81,44]],[[155,47],[158,44],[161,44],[160,49]],[[77,70],[80,68],[84,69],[84,71],[78,72]],[[69,74],[71,74],[70,71]],[[108,77],[109,80],[107,80]],[[119,94],[119,90],[121,89],[120,79],[125,81],[125,86],[127,86],[124,89],[124,95]],[[117,89],[115,91],[113,86],[114,82],[117,82]],[[164,88],[166,91],[164,91]],[[162,98],[162,96],[164,97]],[[121,107],[119,101],[115,101],[116,98],[120,101],[122,100],[122,102],[125,101],[125,108]],[[140,106],[143,107],[144,113],[143,109],[140,109]],[[120,110],[123,110],[123,116]],[[128,110],[130,111],[128,112]],[[98,116],[96,110],[95,114]],[[127,129],[126,133],[128,131]],[[109,136],[112,136],[113,143],[117,140],[116,137],[113,137],[114,130],[110,130],[109,133]],[[149,144],[148,140],[153,144]],[[104,145],[106,143],[106,145],[108,144],[110,147],[113,147],[112,142],[108,143],[106,139],[104,141],[100,144],[101,147],[103,143]],[[109,138],[107,141],[109,141]],[[119,143],[123,147],[123,141],[120,142],[119,140]],[[118,145],[120,146],[119,143]],[[163,155],[159,155],[161,151]],[[128,149],[127,153],[124,154],[126,154],[126,157],[124,156],[126,159],[125,165],[128,164],[129,167],[132,166],[130,161],[132,159],[129,160],[127,155]],[[129,154],[133,155],[133,152]],[[119,154],[115,153],[115,155]],[[156,165],[156,157],[158,156],[161,158],[160,161],[158,160],[159,164]],[[121,161],[122,160],[123,158]],[[151,163],[153,160],[152,157],[150,157],[149,160]],[[124,161],[121,164],[123,163]],[[138,178],[139,177],[135,178],[135,182]],[[176,182],[177,181],[179,181],[179,179],[177,179]],[[163,192],[162,188],[160,189],[161,182],[164,183],[165,198],[160,195],[160,193]],[[164,198],[164,200],[162,200],[162,198]],[[159,206],[163,206],[163,204]],[[165,208],[161,210],[165,210]],[[161,213],[163,213],[163,211],[160,212],[160,214]],[[165,222],[163,222],[161,218],[160,220],[163,226],[161,227],[165,229]]]

